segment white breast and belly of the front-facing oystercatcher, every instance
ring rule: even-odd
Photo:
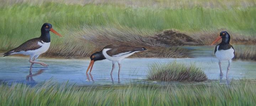
[[[215,56],[219,60],[231,60],[234,57],[234,49],[230,48],[228,50],[218,50],[219,45],[217,46],[217,51],[215,52]]]

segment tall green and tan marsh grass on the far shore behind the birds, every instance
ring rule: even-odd
[[[205,1],[195,1],[195,4],[200,5],[193,6],[186,1],[177,1],[177,4],[181,3],[177,7],[171,4],[173,2],[164,0],[158,3],[150,1],[148,4],[145,4],[147,1],[141,1],[145,5],[136,6],[124,5],[125,0],[120,4],[114,4],[110,0],[110,2],[83,5],[76,2],[56,3],[51,0],[40,3],[3,1],[5,2],[1,2],[0,5],[0,51],[10,50],[28,39],[40,36],[40,28],[45,22],[53,24],[53,28],[64,38],[58,38],[52,34],[51,47],[44,56],[61,57],[90,56],[93,51],[101,47],[98,43],[95,44],[95,41],[98,41],[97,38],[109,37],[105,34],[111,35],[111,40],[105,40],[103,44],[113,43],[121,37],[125,40],[119,43],[139,44],[154,50],[155,48],[164,49],[164,46],[148,39],[139,43],[134,43],[134,41],[138,38],[145,39],[145,37],[153,36],[165,29],[177,29],[186,33],[211,31],[218,34],[220,30],[229,30],[243,35],[256,33],[256,24],[254,24],[256,7],[253,0],[246,2],[252,5],[245,6],[238,5],[241,1],[236,1],[234,6],[220,5],[220,1],[208,1],[213,4],[213,8],[201,6],[207,4]],[[135,5],[136,2],[132,1],[132,4]],[[150,6],[153,4],[157,6]],[[165,4],[167,6],[164,6]],[[92,35],[98,36],[96,38]],[[203,36],[205,35],[209,34]],[[167,50],[171,49],[167,48]],[[177,54],[176,52],[182,51],[171,53]]]

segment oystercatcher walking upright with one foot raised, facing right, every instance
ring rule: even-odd
[[[15,54],[30,55],[29,62],[31,62],[31,67],[34,63],[40,64],[42,66],[48,66],[46,63],[35,62],[35,60],[39,57],[39,55],[46,52],[50,47],[51,37],[50,37],[49,31],[62,37],[61,34],[57,33],[55,30],[52,29],[51,24],[44,23],[41,28],[41,36],[39,38],[33,38],[26,41],[25,43],[21,44],[17,48],[14,48],[6,52],[4,56],[15,55]]]

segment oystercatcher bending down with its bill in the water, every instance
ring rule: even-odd
[[[110,74],[113,74],[113,70],[115,68],[115,62],[118,63],[119,65],[119,70],[118,70],[118,79],[119,79],[119,74],[120,74],[120,69],[121,69],[121,60],[124,58],[134,54],[135,52],[139,52],[142,50],[146,50],[145,48],[140,48],[140,47],[133,47],[129,45],[117,45],[117,44],[111,44],[105,46],[101,51],[95,52],[90,56],[91,62],[89,64],[89,67],[86,71],[86,73],[89,71],[90,68],[90,73],[93,68],[93,64],[95,61],[98,60],[110,60],[112,61],[112,70]]]

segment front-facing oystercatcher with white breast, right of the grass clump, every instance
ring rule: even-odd
[[[221,61],[228,60],[229,66],[227,69],[226,77],[228,76],[228,71],[231,64],[231,59],[235,56],[235,49],[232,45],[229,44],[230,35],[226,31],[220,32],[220,36],[213,41],[211,45],[214,45],[217,41],[222,39],[221,43],[215,46],[214,54],[219,59],[219,66],[220,66],[220,76],[222,76],[222,69],[221,69]]]

